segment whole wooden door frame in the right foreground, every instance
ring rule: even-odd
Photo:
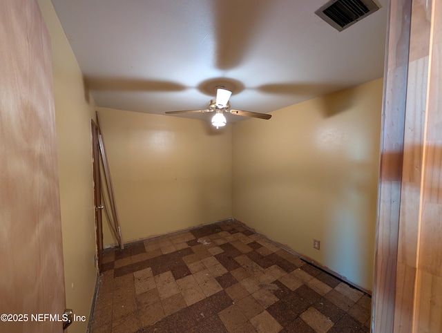
[[[441,17],[439,0],[390,0],[372,332],[442,330]]]

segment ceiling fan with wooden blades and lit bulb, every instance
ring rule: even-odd
[[[225,126],[227,123],[226,117],[224,117],[224,112],[229,112],[232,115],[242,115],[244,117],[253,117],[259,119],[269,120],[271,115],[267,115],[265,113],[251,112],[251,111],[242,111],[235,110],[230,108],[229,98],[232,92],[228,91],[224,87],[216,87],[216,98],[211,99],[209,103],[209,108],[204,110],[186,110],[186,111],[166,111],[166,115],[176,115],[177,113],[205,113],[205,112],[213,112],[215,111],[215,115],[212,117],[212,125],[217,129],[219,127]]]

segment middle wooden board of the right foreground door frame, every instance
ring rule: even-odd
[[[411,332],[419,241],[431,3],[413,1],[407,73],[394,332]]]

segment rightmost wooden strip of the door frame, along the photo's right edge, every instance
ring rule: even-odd
[[[442,5],[432,1],[432,44],[414,332],[442,332]]]

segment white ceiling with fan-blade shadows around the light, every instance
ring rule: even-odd
[[[387,0],[343,32],[314,14],[326,2],[52,0],[97,106],[156,114],[206,108],[216,85],[269,113],[382,77]]]

